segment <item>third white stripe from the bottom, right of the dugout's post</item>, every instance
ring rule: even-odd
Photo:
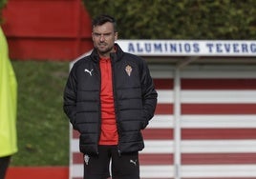
[[[182,115],[181,127],[183,129],[253,129],[256,128],[256,115]]]

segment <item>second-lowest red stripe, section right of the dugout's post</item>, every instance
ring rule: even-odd
[[[256,139],[256,129],[181,129],[181,137],[182,140]]]

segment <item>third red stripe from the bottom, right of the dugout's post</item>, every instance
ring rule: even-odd
[[[182,114],[256,114],[256,104],[181,104]]]

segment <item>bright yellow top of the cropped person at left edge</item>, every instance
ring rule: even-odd
[[[17,81],[9,59],[6,36],[0,27],[0,157],[17,149]]]

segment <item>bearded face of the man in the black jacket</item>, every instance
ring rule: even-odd
[[[112,23],[107,22],[101,26],[94,27],[92,37],[99,55],[108,57],[110,52],[115,51],[114,44],[117,40],[117,32],[115,32]]]

